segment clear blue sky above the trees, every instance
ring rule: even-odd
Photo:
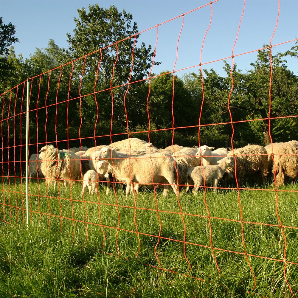
[[[204,35],[210,23],[211,7],[207,5],[191,13],[197,7],[208,4],[207,0],[0,0],[0,15],[4,24],[15,25],[19,43],[14,44],[16,55],[22,54],[29,58],[36,48],[43,49],[52,38],[60,47],[67,47],[66,33],[73,33],[74,17],[78,17],[77,9],[89,4],[98,3],[100,7],[108,8],[115,5],[119,11],[124,9],[133,15],[133,21],[138,25],[139,32],[181,16],[184,13],[184,24],[179,39],[176,75],[198,72],[200,53]],[[204,41],[202,50],[202,68],[213,68],[220,75],[223,62],[212,62],[232,55],[240,18],[243,11],[243,0],[219,0],[212,4],[213,16],[210,29]],[[186,14],[187,13],[187,14]],[[254,51],[269,44],[274,32],[278,14],[278,0],[246,0],[240,31],[234,48],[234,55]],[[182,17],[166,22],[158,27],[158,42],[156,60],[160,66],[154,66],[153,72],[173,71],[176,60],[177,42],[182,26]],[[155,46],[156,27],[143,32],[139,41]],[[272,39],[272,45],[284,43],[298,38],[298,1],[281,0],[277,28]],[[295,42],[276,46],[273,54],[285,52],[295,45]],[[249,63],[254,62],[257,52],[240,55],[234,58],[238,69],[243,72],[251,69]],[[232,59],[226,59],[232,63]],[[288,58],[288,68],[298,75],[298,61]],[[181,70],[185,69],[186,70]],[[178,71],[179,70],[179,71]]]

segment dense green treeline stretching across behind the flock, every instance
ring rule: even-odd
[[[236,147],[266,145],[269,135],[274,142],[298,139],[298,76],[286,64],[288,55],[298,58],[297,44],[285,53],[271,55],[271,60],[269,47],[264,46],[246,73],[234,65],[228,103],[232,88],[228,63],[224,62],[226,77],[212,69],[203,71],[203,80],[199,72],[181,78],[165,71],[156,77],[150,69],[160,62],[154,61],[150,45],[138,44],[138,27],[132,24],[130,13],[119,12],[114,6],[103,9],[98,4],[90,5],[89,12],[78,9],[78,13],[73,35],[67,33],[68,49],[51,39],[47,48],[36,49],[25,60],[21,55],[16,57],[11,46],[18,41],[15,27],[4,25],[1,18],[1,41],[5,42],[0,44],[0,145],[6,165],[12,156],[22,159],[20,145],[25,144],[25,103],[21,100],[25,84],[13,87],[32,77],[33,152],[40,147],[37,144],[45,142],[58,148],[108,144],[111,134],[117,141],[127,138],[127,131],[148,139],[150,130],[150,142],[156,147],[172,142],[194,146],[198,141],[231,147],[232,137]],[[55,70],[48,72],[50,69]],[[268,117],[274,119],[269,122]],[[251,121],[240,122],[243,120]],[[211,125],[217,123],[227,124]],[[173,127],[177,128],[174,137]]]

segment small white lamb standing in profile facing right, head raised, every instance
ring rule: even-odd
[[[196,195],[198,188],[204,185],[205,181],[205,185],[212,183],[213,192],[216,193],[219,180],[224,176],[227,167],[229,167],[232,162],[228,157],[224,157],[217,163],[218,165],[211,164],[191,168],[186,175],[187,187],[185,192],[189,190],[190,182],[193,181],[191,185],[194,185],[193,194]]]

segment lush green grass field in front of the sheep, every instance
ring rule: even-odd
[[[33,181],[27,228],[25,184],[4,182],[0,297],[298,296],[298,184],[83,199]]]

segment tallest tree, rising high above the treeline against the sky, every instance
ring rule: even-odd
[[[81,115],[89,127],[82,129],[90,131],[96,126],[98,134],[106,134],[111,125],[113,102],[114,133],[123,132],[127,84],[148,75],[153,63],[151,46],[146,47],[144,43],[137,46],[137,24],[132,24],[132,15],[125,10],[121,13],[115,6],[103,9],[95,4],[89,5],[88,13],[85,8],[78,9],[78,13],[76,29],[73,35],[67,34],[67,41],[71,59],[83,56],[77,60],[76,69],[77,79],[81,82]],[[93,54],[85,56],[88,53]],[[133,93],[139,86],[129,84],[129,92]]]

